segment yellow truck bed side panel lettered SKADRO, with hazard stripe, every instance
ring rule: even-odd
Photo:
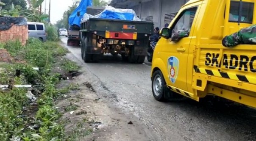
[[[198,54],[199,53],[199,54]],[[256,84],[256,45],[198,47],[195,71],[238,83]],[[226,85],[229,85],[226,81]]]

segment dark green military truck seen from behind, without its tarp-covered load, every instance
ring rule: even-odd
[[[81,22],[81,57],[88,63],[120,54],[123,61],[142,64],[153,28],[153,22],[89,18]]]

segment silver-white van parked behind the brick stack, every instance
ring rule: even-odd
[[[46,41],[45,24],[42,22],[28,22],[28,37]]]

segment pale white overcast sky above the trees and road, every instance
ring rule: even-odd
[[[49,14],[49,1],[50,0],[45,0],[45,2],[42,4],[42,11],[44,12],[45,12],[45,4],[46,4],[47,14]],[[50,22],[55,24],[58,20],[60,20],[63,16],[64,11],[66,11],[69,6],[72,6],[72,4],[73,4],[72,0],[51,0]]]

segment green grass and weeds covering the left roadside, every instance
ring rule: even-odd
[[[41,91],[37,96],[37,108],[29,109],[31,101],[27,97],[27,89],[0,90],[1,141],[8,141],[9,138],[23,141],[73,141],[73,138],[77,138],[65,134],[61,113],[55,109],[54,101],[69,90],[77,89],[78,85],[72,84],[58,90],[56,84],[60,82],[60,74],[50,73],[56,58],[65,55],[67,50],[58,42],[42,43],[37,39],[29,39],[25,47],[19,41],[0,44],[0,47],[6,48],[14,58],[27,62],[0,64],[0,68],[4,68],[0,70],[0,84],[7,85],[9,80],[14,80],[14,84],[32,84]],[[66,63],[64,67],[67,72],[79,68],[71,61]],[[40,70],[36,71],[33,67],[39,67]],[[17,69],[22,72],[20,77],[15,76]],[[74,107],[67,110],[72,109]],[[28,110],[35,115],[34,118],[30,117],[31,113],[26,113]],[[33,125],[38,125],[38,128],[29,128]]]

